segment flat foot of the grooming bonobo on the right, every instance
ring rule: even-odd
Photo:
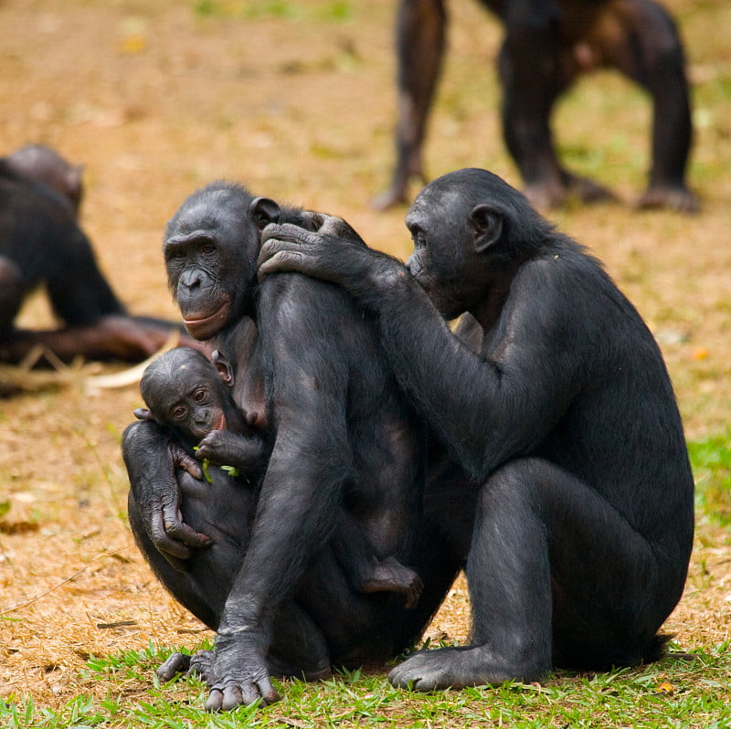
[[[503,681],[537,681],[548,667],[514,666],[483,646],[421,650],[388,674],[400,688],[415,691],[497,685]]]

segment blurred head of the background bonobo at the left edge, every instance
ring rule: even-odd
[[[83,165],[69,164],[60,154],[43,144],[27,144],[5,157],[7,167],[24,180],[47,185],[68,203],[74,217],[84,194]]]

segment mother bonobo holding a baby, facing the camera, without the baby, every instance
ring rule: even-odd
[[[208,540],[185,523],[175,468],[196,471],[195,460],[150,421],[127,428],[122,442],[138,544],[173,595],[217,628],[206,674],[212,709],[276,698],[272,640],[290,664],[302,651],[296,635],[282,638],[290,623],[272,624],[292,599],[309,618],[305,639],[324,644],[334,664],[373,664],[418,638],[459,569],[422,523],[424,428],[386,365],[370,315],[341,287],[304,276],[258,284],[258,224],[280,216],[310,225],[297,211],[217,183],[191,195],[165,234],[168,278],[188,332],[227,354],[234,402],[270,440],[246,554],[242,564],[223,567],[235,574],[233,585],[208,579],[204,589],[207,573],[191,579],[185,572],[190,562],[222,569],[209,556],[216,544],[196,549]],[[178,469],[178,480],[188,478]],[[205,509],[200,503],[192,516],[205,521]],[[350,585],[343,555],[333,554],[343,510],[381,559],[394,555],[423,579],[415,608]],[[244,510],[240,522],[245,531]]]

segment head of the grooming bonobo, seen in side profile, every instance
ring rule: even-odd
[[[553,228],[495,174],[464,169],[429,183],[408,211],[407,267],[442,316],[470,311],[504,284]]]

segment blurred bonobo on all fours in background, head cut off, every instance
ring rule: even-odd
[[[683,47],[671,16],[653,0],[481,0],[505,26],[498,70],[503,136],[536,206],[611,198],[606,187],[569,172],[556,154],[556,100],[592,69],[617,69],[652,96],[652,167],[640,207],[699,209],[685,184],[692,126]],[[445,46],[443,0],[400,0],[397,18],[397,163],[379,208],[407,199],[423,182],[421,148]]]

